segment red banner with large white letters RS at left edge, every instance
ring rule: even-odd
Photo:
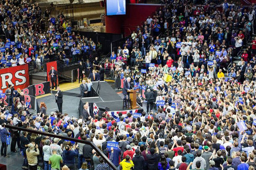
[[[14,89],[20,88],[24,89],[29,86],[29,66],[19,65],[10,68],[3,68],[0,71],[0,89],[3,93],[11,84]]]

